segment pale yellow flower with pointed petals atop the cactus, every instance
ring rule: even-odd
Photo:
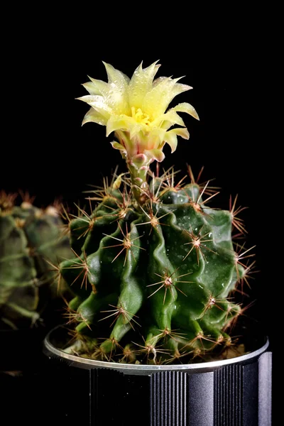
[[[178,112],[186,112],[199,119],[192,105],[186,102],[166,111],[175,96],[192,87],[178,83],[180,78],[159,77],[153,80],[160,67],[157,62],[144,69],[141,63],[131,80],[104,62],[109,81],[90,78],[83,84],[89,95],[78,98],[91,107],[82,124],[94,121],[107,126],[107,136],[114,131],[119,142],[112,145],[129,159],[136,155],[141,158],[144,154],[147,160],[163,160],[165,143],[173,152],[178,144],[177,136],[189,138]],[[174,124],[182,127],[169,130]]]

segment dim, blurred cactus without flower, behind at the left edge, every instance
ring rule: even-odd
[[[58,207],[39,209],[28,197],[17,206],[17,196],[0,192],[0,320],[12,329],[40,320],[58,293],[58,263],[73,256]]]

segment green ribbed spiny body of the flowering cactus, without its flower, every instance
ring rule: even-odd
[[[139,207],[113,185],[88,219],[72,220],[77,257],[60,264],[76,294],[71,351],[158,362],[229,344],[241,307],[228,296],[245,273],[231,241],[234,215],[208,208],[195,182],[165,181],[155,178]]]

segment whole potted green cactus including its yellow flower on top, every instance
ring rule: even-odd
[[[177,94],[191,87],[160,77],[156,62],[140,65],[128,79],[105,64],[109,82],[91,79],[81,97],[94,121],[115,132],[112,143],[128,172],[95,190],[90,214],[70,222],[76,257],[60,264],[75,297],[68,324],[75,324],[73,354],[123,363],[189,362],[231,345],[229,331],[243,308],[236,286],[247,280],[249,251],[235,252],[232,229],[244,234],[236,200],[228,211],[209,208],[214,187],[175,182],[173,168],[159,176],[150,169],[175,151],[177,136],[188,138],[177,111],[198,119],[187,103],[165,112]],[[168,130],[173,124],[182,126]],[[158,170],[158,168],[157,168]]]

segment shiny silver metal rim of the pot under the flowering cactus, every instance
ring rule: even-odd
[[[45,337],[45,340],[43,342],[44,345],[44,352],[45,355],[52,357],[60,357],[63,359],[66,359],[67,361],[70,361],[70,364],[72,366],[77,366],[80,368],[112,368],[114,370],[119,370],[124,373],[133,373],[133,374],[139,374],[139,373],[155,373],[158,371],[176,371],[176,370],[207,370],[212,368],[218,368],[221,366],[226,366],[230,364],[241,364],[243,362],[250,361],[253,358],[256,358],[263,354],[268,349],[269,341],[268,337],[266,337],[266,343],[263,344],[263,346],[259,347],[259,349],[256,349],[254,351],[247,352],[244,355],[236,356],[234,358],[230,359],[223,359],[218,361],[207,361],[202,363],[195,363],[195,364],[172,364],[172,365],[148,365],[148,364],[121,364],[116,362],[108,362],[108,361],[97,361],[95,359],[89,359],[89,358],[82,358],[80,356],[67,354],[62,349],[57,349],[53,344],[50,342],[50,339],[52,338],[51,334],[53,334],[56,331],[59,331],[60,326],[56,327],[55,329],[51,330],[48,335]]]

